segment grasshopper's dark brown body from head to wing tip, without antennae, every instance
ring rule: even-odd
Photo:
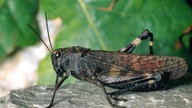
[[[57,60],[52,56],[53,67],[59,69],[55,69],[58,75],[70,71],[80,80],[94,84],[100,81],[105,86],[117,89],[135,84],[144,86],[130,90],[161,89],[168,80],[178,79],[187,71],[186,62],[179,57],[134,55],[79,46],[58,49],[53,53],[61,55]]]

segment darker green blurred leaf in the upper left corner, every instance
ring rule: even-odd
[[[14,51],[38,41],[27,27],[27,24],[38,24],[38,11],[38,0],[0,0],[0,62]]]

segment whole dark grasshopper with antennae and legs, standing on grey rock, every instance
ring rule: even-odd
[[[33,31],[39,36],[34,29]],[[140,42],[148,38],[150,55],[130,54]],[[42,39],[41,41],[44,43]],[[44,43],[51,53],[52,65],[57,74],[48,108],[53,106],[56,91],[70,75],[101,87],[112,107],[119,107],[113,102],[118,100],[118,95],[129,91],[159,90],[164,88],[169,80],[182,77],[187,71],[186,62],[179,57],[153,56],[152,42],[153,34],[144,30],[119,51],[91,50],[80,46],[53,50],[51,42],[51,49]],[[106,86],[117,91],[109,93]]]

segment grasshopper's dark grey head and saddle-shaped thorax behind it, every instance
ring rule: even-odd
[[[62,76],[67,71],[75,71],[79,58],[89,49],[72,46],[59,48],[51,53],[51,61],[57,75]]]

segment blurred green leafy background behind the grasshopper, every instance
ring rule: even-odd
[[[108,7],[112,0],[15,0],[12,1],[18,5],[15,8],[21,8],[17,11],[11,8],[9,1],[0,2],[1,60],[14,48],[36,42],[36,36],[26,25],[37,24],[37,11],[42,14],[46,11],[49,19],[60,17],[63,21],[54,49],[78,45],[116,51],[149,29],[154,34],[154,55],[183,57],[191,68],[192,54],[188,49],[175,49],[178,36],[192,25],[192,8],[185,0],[119,0],[111,12],[98,8]],[[20,16],[23,11],[27,14]],[[188,46],[189,39],[184,41]],[[141,43],[133,53],[149,54],[148,41]],[[38,71],[39,84],[54,84],[56,75],[50,54],[40,63]],[[67,83],[74,81],[70,78]]]

